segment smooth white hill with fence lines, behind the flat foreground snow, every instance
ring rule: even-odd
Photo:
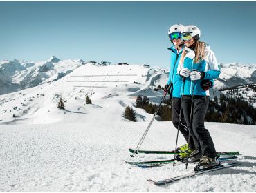
[[[58,81],[0,96],[0,123],[122,120],[125,106],[135,102],[132,94],[148,87],[146,79],[156,74],[158,72],[143,65],[96,66],[87,63]],[[91,96],[93,105],[84,104],[86,95]],[[57,109],[60,97],[64,99],[65,111]],[[105,114],[113,116],[105,118]],[[138,116],[145,121],[147,115],[140,112]]]

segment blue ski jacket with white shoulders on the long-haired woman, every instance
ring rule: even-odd
[[[213,83],[213,79],[217,79],[219,74],[221,74],[219,63],[214,55],[214,52],[210,50],[210,46],[206,46],[205,48],[205,59],[199,61],[199,63],[194,63],[194,54],[188,52],[185,55],[184,61],[179,62],[178,66],[178,74],[181,68],[188,68],[189,70],[197,70],[199,72],[204,72],[205,77],[203,79],[209,79]],[[179,80],[182,81],[182,77],[178,76]],[[184,95],[199,95],[199,96],[209,96],[209,90],[203,90],[201,88],[202,79],[191,81],[190,77],[185,79],[184,84]],[[193,93],[194,92],[194,93]],[[180,90],[180,94],[182,94],[182,90]]]

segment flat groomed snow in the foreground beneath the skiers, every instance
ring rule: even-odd
[[[0,125],[0,192],[255,192],[255,126],[205,123],[218,151],[239,150],[242,165],[158,187],[192,171],[185,165],[142,169],[127,165],[148,123]],[[172,122],[154,122],[142,149],[172,150]],[[179,144],[183,144],[179,137]],[[170,159],[140,154],[134,160]]]

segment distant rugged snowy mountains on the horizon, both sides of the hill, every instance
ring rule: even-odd
[[[47,61],[1,61],[0,62],[0,94],[7,94],[32,88],[42,83],[57,81],[73,70],[79,68],[86,63],[82,59],[61,60],[52,56]],[[100,63],[94,65],[102,66]],[[166,74],[166,68],[151,68]],[[155,78],[157,82],[161,76]],[[146,79],[146,81],[148,81]],[[228,88],[235,85],[243,85],[247,83],[256,83],[256,65],[241,63],[225,63],[221,64],[221,75],[215,81],[214,88]],[[154,83],[151,83],[154,85]],[[165,84],[165,83],[164,83]]]

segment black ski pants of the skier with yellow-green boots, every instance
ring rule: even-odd
[[[181,123],[179,126],[180,111],[181,111]],[[172,123],[174,127],[177,129],[179,126],[179,131],[181,132],[181,134],[183,134],[185,141],[187,141],[188,143],[189,131],[188,131],[187,123],[184,119],[184,115],[181,109],[181,98],[175,98],[175,97],[172,98]],[[196,146],[195,146],[194,140],[192,136],[190,136],[190,144],[188,144],[188,146],[190,147],[190,149],[195,150],[196,148],[198,148],[197,146],[199,146],[199,143],[196,143]]]

